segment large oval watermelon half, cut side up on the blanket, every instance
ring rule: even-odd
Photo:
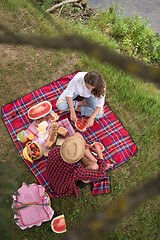
[[[32,120],[42,118],[52,110],[52,104],[49,101],[43,101],[31,107],[28,111],[28,117]]]

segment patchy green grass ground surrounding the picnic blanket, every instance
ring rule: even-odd
[[[103,15],[101,17],[103,20]],[[15,32],[57,36],[59,32],[54,23],[58,22],[66,32],[76,32],[101,45],[109,45],[116,51],[122,51],[121,39],[106,34],[99,27],[100,23],[97,21],[95,24],[95,21],[95,19],[90,19],[88,24],[82,25],[81,23],[73,24],[72,21],[67,20],[66,24],[66,19],[57,16],[51,19],[27,0],[0,1],[0,22]],[[102,22],[104,24],[104,20],[101,21],[101,24]],[[137,20],[138,24],[140,23]],[[127,46],[130,46],[127,41],[125,52]],[[132,41],[131,44],[133,47]],[[147,58],[145,54],[144,57]],[[150,61],[150,56],[147,59]],[[160,171],[158,165],[159,89],[151,83],[144,83],[140,79],[123,73],[108,64],[102,64],[85,54],[74,51],[49,51],[26,46],[0,45],[0,105],[12,102],[76,70],[96,70],[103,74],[107,84],[106,101],[130,132],[138,147],[138,152],[131,160],[110,173],[111,194],[93,197],[90,186],[87,186],[80,192],[79,198],[70,196],[52,199],[55,216],[62,213],[65,215],[68,231],[76,224],[83,222],[91,213],[97,212],[133,188],[143,185]],[[9,216],[3,229],[12,234],[12,239],[45,240],[53,238],[56,240],[59,235],[51,231],[50,222],[43,223],[41,227],[34,226],[22,231],[11,221],[13,220],[10,211],[12,198],[9,196],[13,194],[13,188],[17,190],[23,182],[28,184],[33,182],[38,184],[38,182],[21,157],[18,156],[18,151],[3,124],[2,116],[0,121],[1,162],[4,163],[1,168],[1,187],[3,188],[1,212],[4,214],[5,209],[5,215]],[[160,222],[158,201],[159,197],[157,196],[139,206],[122,221],[110,236],[104,239],[160,239],[158,235]],[[2,227],[3,224],[4,221],[1,220]]]

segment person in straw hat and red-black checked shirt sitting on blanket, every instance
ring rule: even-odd
[[[104,179],[106,170],[113,164],[106,164],[99,145],[93,149],[98,160],[85,148],[83,136],[76,132],[67,138],[61,147],[54,147],[48,155],[47,178],[53,192],[59,196],[75,194],[85,183]],[[82,164],[77,164],[81,161]]]

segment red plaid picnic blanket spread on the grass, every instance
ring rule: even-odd
[[[26,130],[32,123],[32,120],[30,120],[27,115],[29,108],[39,102],[48,100],[52,103],[53,110],[59,114],[55,105],[56,101],[76,73],[77,72],[62,77],[1,108],[4,123],[22,158],[24,145],[17,140],[17,134],[21,130]],[[81,116],[79,115],[78,117]],[[70,121],[69,114],[67,113],[61,115],[59,121],[66,118]],[[74,130],[76,131],[75,128]],[[114,163],[114,168],[126,162],[137,152],[136,144],[107,103],[104,105],[103,118],[95,121],[94,125],[83,133],[83,136],[89,144],[99,141],[105,146],[104,159],[107,163]],[[46,181],[45,169],[47,158],[43,156],[33,164],[24,158],[23,160],[36,176],[38,182],[45,187],[46,192],[48,192],[51,197],[56,197]],[[105,181],[107,185],[104,185],[104,181],[94,183],[93,194],[110,192],[108,180],[109,178]]]

